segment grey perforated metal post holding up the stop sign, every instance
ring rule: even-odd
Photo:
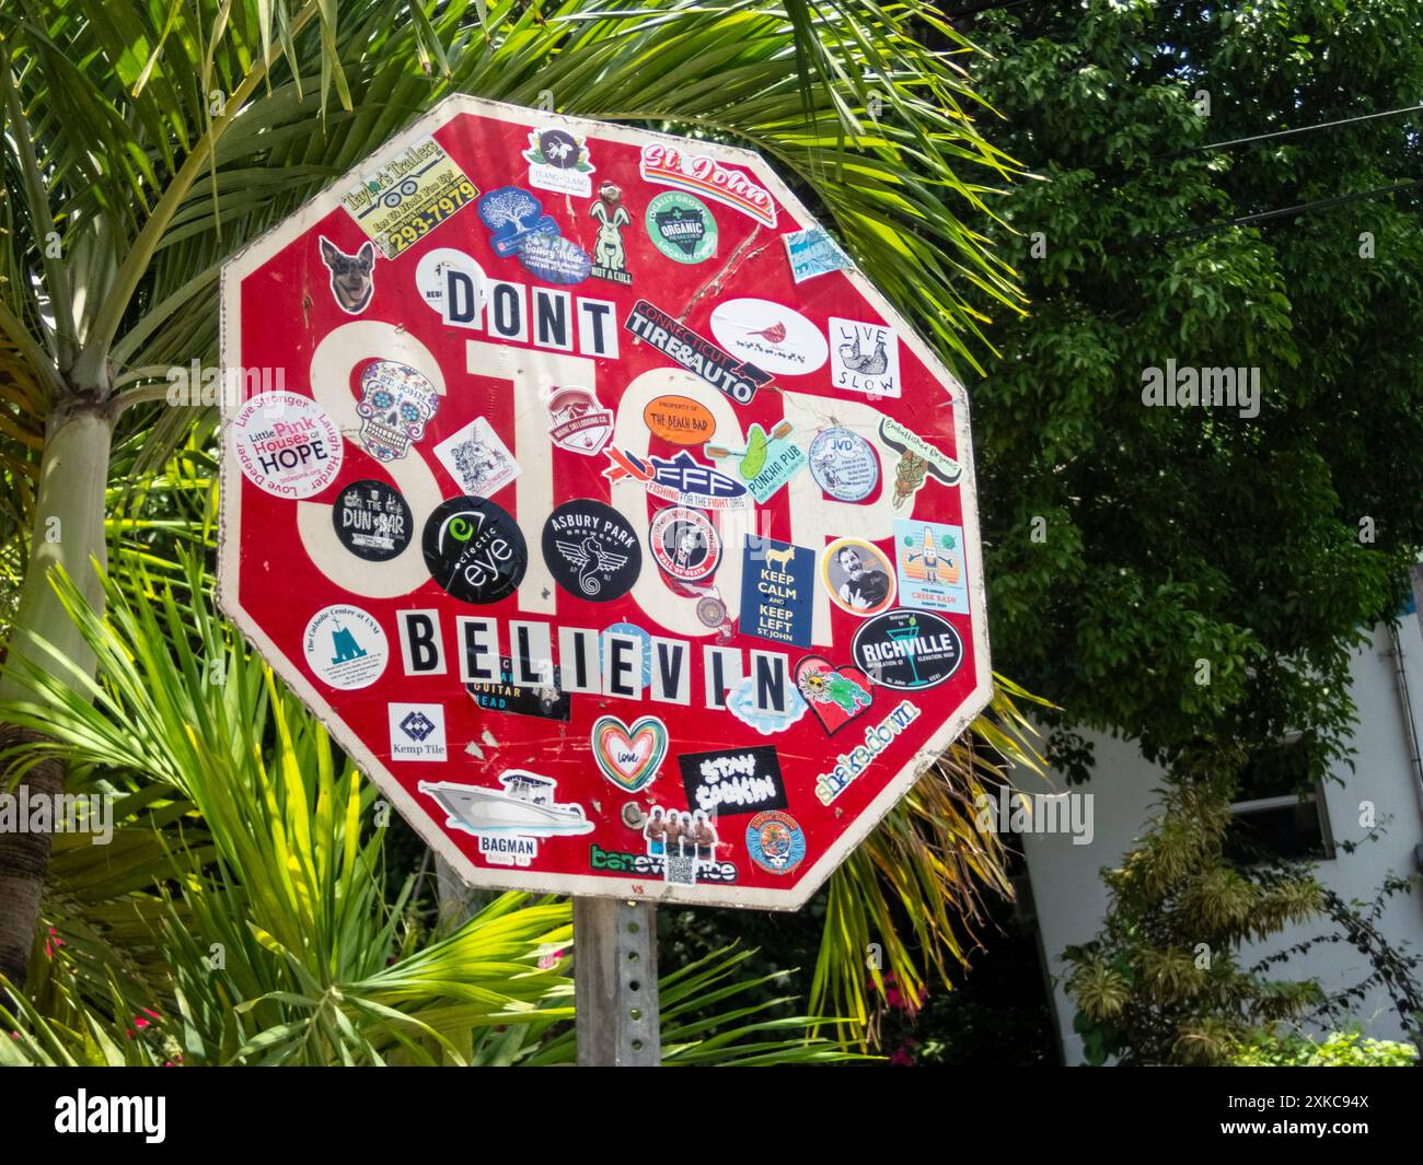
[[[657,916],[650,902],[573,899],[579,1067],[656,1067]]]

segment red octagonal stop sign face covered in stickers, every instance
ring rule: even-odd
[[[223,607],[471,883],[800,906],[988,703],[963,390],[754,154],[450,98],[222,304]]]

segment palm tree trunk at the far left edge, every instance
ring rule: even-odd
[[[60,605],[48,576],[53,566],[63,566],[80,592],[95,607],[102,606],[104,592],[91,559],[100,565],[105,560],[104,488],[110,437],[107,410],[92,398],[83,400],[77,407],[71,398],[50,415],[48,438],[40,459],[30,562],[9,654],[0,669],[0,700],[24,700],[28,696],[16,667],[20,657],[47,671],[54,670],[51,656],[36,640],[44,640],[75,666],[94,673],[94,656]],[[33,740],[37,740],[33,733],[0,724],[0,754]],[[7,789],[11,768],[13,764],[0,761],[0,785]],[[64,785],[64,767],[58,761],[44,761],[31,767],[20,784],[28,785],[31,804],[37,797],[54,797]],[[0,973],[17,986],[24,983],[34,947],[50,844],[47,832],[17,829],[0,834]]]

